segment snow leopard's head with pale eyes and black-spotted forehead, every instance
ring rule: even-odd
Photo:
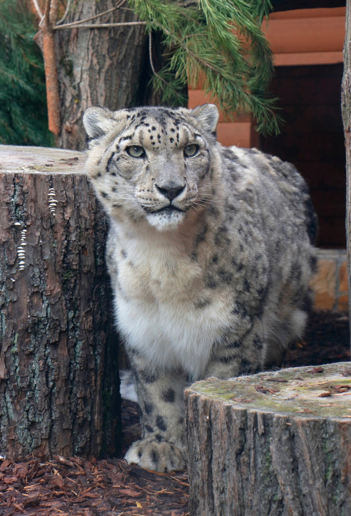
[[[141,107],[85,112],[86,169],[108,213],[172,229],[213,197],[218,109]]]

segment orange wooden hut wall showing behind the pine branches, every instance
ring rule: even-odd
[[[276,66],[316,65],[343,61],[345,7],[297,9],[270,15],[262,29],[270,41]],[[200,88],[189,89],[188,107],[214,102]],[[226,146],[258,147],[254,124],[247,116],[221,116],[218,140]]]

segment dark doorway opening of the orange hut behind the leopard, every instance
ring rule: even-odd
[[[260,139],[262,151],[293,163],[306,179],[324,248],[346,247],[342,74],[342,64],[277,67],[270,90],[286,123],[279,136]]]

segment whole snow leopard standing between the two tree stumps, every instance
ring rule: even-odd
[[[83,118],[141,412],[125,459],[148,470],[186,467],[185,386],[279,363],[313,301],[306,182],[278,157],[223,147],[218,120],[213,104],[91,107]]]

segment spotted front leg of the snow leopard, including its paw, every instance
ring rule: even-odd
[[[140,357],[130,357],[141,412],[142,439],[125,459],[147,470],[182,470],[187,465],[183,389],[179,372],[153,369]]]

